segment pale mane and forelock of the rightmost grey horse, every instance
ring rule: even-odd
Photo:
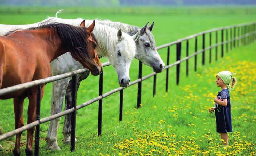
[[[114,28],[121,28],[123,31],[125,31],[127,34],[129,35],[135,35],[141,28],[137,27],[137,26],[133,26],[133,25],[129,25],[126,23],[121,23],[121,22],[113,22],[111,20],[101,20],[101,19],[95,19],[96,23],[99,24],[106,24],[110,27],[114,27]],[[149,37],[150,40],[150,44],[152,45],[153,50],[156,49],[156,45],[155,45],[155,39],[153,34],[151,33],[151,31],[147,28],[145,33],[147,34],[147,36]],[[138,44],[138,41],[136,41],[136,44]]]

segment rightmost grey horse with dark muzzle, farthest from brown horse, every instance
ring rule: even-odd
[[[56,14],[57,15],[57,14]],[[56,19],[54,19],[56,20]],[[74,20],[82,20],[81,18],[77,19],[69,19],[70,21]],[[111,22],[109,20],[102,21],[102,20],[95,20],[96,23],[108,25],[113,28],[121,28],[123,32],[128,33],[129,35],[135,35],[138,32],[140,32],[139,39],[135,42],[137,47],[137,52],[135,55],[136,59],[141,60],[144,64],[150,66],[153,68],[153,71],[156,73],[162,72],[163,68],[165,67],[165,64],[163,63],[161,57],[159,56],[156,46],[155,46],[155,40],[151,33],[154,22],[147,27],[147,24],[143,28],[139,28],[136,26],[130,26],[128,24],[120,23],[120,22]],[[85,74],[84,76],[88,75],[89,73]],[[85,79],[86,77],[83,77]],[[79,88],[80,82],[78,82],[77,86]],[[66,97],[65,97],[65,110],[71,106],[71,81],[69,82],[69,86],[66,89]],[[62,104],[62,103],[61,103]],[[56,110],[56,107],[51,107],[51,112],[53,114],[58,113],[61,111],[62,105],[58,106],[58,110]],[[70,142],[70,132],[71,132],[71,115],[65,116],[65,122],[63,126],[63,135],[64,135],[64,143]],[[56,127],[58,127],[58,123],[54,121],[50,121],[50,126],[47,134],[47,142],[49,146],[53,147],[52,149],[55,150],[58,147],[57,145],[57,132]],[[57,148],[59,149],[59,148]]]

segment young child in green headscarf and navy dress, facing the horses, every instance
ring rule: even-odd
[[[235,73],[230,71],[222,71],[216,75],[216,83],[218,87],[221,87],[221,91],[214,98],[215,107],[209,109],[210,113],[215,110],[216,130],[221,135],[221,139],[224,140],[222,143],[225,146],[229,145],[227,132],[233,132],[229,96],[229,92],[237,83],[237,79],[233,75]]]

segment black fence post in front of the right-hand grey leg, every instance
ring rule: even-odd
[[[77,75],[72,76],[71,102],[74,112],[71,113],[71,135],[70,135],[70,151],[75,151],[75,124],[77,111]]]

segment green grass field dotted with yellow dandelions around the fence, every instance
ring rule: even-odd
[[[129,23],[131,25],[144,26],[147,21],[155,21],[153,34],[157,46],[179,38],[208,30],[215,27],[228,26],[252,22],[255,20],[255,8],[253,7],[217,7],[217,9],[196,7],[190,14],[184,8],[170,8],[178,10],[175,14],[158,14],[161,9],[157,7],[153,14],[129,14],[124,13],[60,13],[61,18],[85,18],[85,19],[110,19]],[[53,11],[49,13],[28,13],[25,11],[9,13],[3,11],[0,14],[1,24],[28,24],[38,22],[47,16],[55,16]],[[56,9],[56,11],[59,8]],[[140,8],[138,8],[140,9]],[[159,11],[157,10],[159,9]],[[237,11],[239,10],[240,11]],[[67,9],[69,10],[69,9]],[[86,10],[86,9],[85,9]],[[144,9],[145,10],[145,9]],[[203,12],[202,12],[203,10]],[[216,11],[224,10],[224,11]],[[229,10],[229,11],[225,11]],[[231,10],[231,11],[230,11]],[[233,10],[233,11],[232,11]],[[241,11],[241,10],[249,10]],[[107,10],[108,11],[108,10]],[[200,12],[201,11],[201,12]],[[251,12],[250,12],[251,11]],[[47,12],[47,11],[46,11]],[[200,14],[207,13],[207,14]],[[215,38],[213,34],[213,38]],[[208,36],[206,36],[208,37]],[[220,35],[219,35],[220,37]],[[201,48],[201,38],[198,39],[198,47]],[[215,40],[214,40],[215,41]],[[185,43],[184,43],[185,44]],[[208,43],[207,43],[208,44]],[[206,45],[207,46],[207,45]],[[182,44],[182,57],[185,56],[185,46]],[[193,71],[194,59],[189,60],[189,77],[185,76],[185,63],[181,64],[180,85],[175,85],[175,68],[169,71],[169,92],[165,93],[166,72],[157,76],[157,95],[152,97],[153,78],[142,83],[142,107],[136,109],[137,85],[124,90],[124,116],[119,122],[119,93],[103,99],[103,127],[102,136],[97,137],[97,103],[77,112],[77,146],[76,152],[70,153],[69,146],[63,144],[62,127],[64,118],[58,131],[58,143],[61,151],[47,151],[44,141],[48,123],[40,125],[40,155],[255,155],[256,136],[255,120],[255,57],[256,44],[235,48],[225,53],[224,58],[209,64],[209,54],[206,52],[206,65],[201,66],[201,55],[198,56],[198,71]],[[166,62],[167,49],[159,50],[159,54]],[[190,54],[194,52],[194,41],[190,41]],[[171,47],[170,62],[176,59],[175,46]],[[213,58],[214,60],[215,58]],[[106,61],[105,59],[102,62]],[[219,144],[219,134],[216,133],[214,115],[208,113],[208,108],[213,106],[213,98],[219,88],[215,84],[215,74],[221,70],[230,70],[237,73],[238,85],[231,92],[231,105],[233,117],[233,133],[230,133],[230,146],[223,148]],[[143,66],[143,75],[152,72],[152,69]],[[130,68],[131,81],[138,77],[138,60],[134,60]],[[117,74],[113,67],[104,68],[103,92],[119,87]],[[77,104],[81,104],[98,96],[98,76],[89,76],[84,80],[78,91]],[[26,123],[27,100],[24,106],[24,119]],[[41,102],[41,118],[50,115],[51,84],[47,84],[45,95]],[[6,130],[14,129],[14,112],[12,100],[1,100],[2,119],[0,125]],[[15,137],[2,141],[5,151],[0,155],[12,155]],[[21,153],[25,155],[26,132],[22,134]]]

